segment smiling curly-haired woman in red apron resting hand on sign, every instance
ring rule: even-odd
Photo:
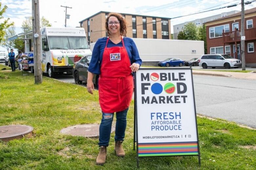
[[[106,161],[113,114],[116,112],[115,151],[117,156],[125,156],[122,148],[126,129],[126,115],[133,94],[133,76],[141,65],[138,49],[126,35],[126,22],[122,15],[110,13],[105,24],[109,37],[95,43],[88,69],[87,90],[93,94],[94,74],[99,74],[99,104],[102,119],[99,127],[100,151],[96,164]],[[132,64],[131,64],[132,63]]]

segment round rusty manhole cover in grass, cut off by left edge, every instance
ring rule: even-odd
[[[33,127],[26,125],[0,126],[0,140],[4,142],[20,139],[25,135],[32,135]]]

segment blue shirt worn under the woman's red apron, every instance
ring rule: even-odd
[[[103,52],[106,46],[107,39],[108,39],[107,37],[99,38],[95,43],[93,48],[92,59],[90,61],[90,65],[88,68],[89,72],[94,74],[100,74],[100,66],[102,63]],[[123,42],[127,50],[128,56],[130,58],[131,64],[135,62],[141,65],[142,60],[139,57],[139,52],[135,42],[129,37],[124,37]],[[111,40],[109,40],[107,47],[114,47],[114,46],[122,47],[123,46],[122,41],[119,42],[118,44],[115,44]]]

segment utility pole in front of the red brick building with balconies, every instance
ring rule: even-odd
[[[241,0],[241,58],[242,70],[245,70],[245,3]]]

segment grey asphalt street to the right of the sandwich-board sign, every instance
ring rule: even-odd
[[[256,128],[256,80],[193,77],[197,113]]]

